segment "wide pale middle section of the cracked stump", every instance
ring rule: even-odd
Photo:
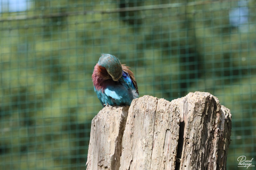
[[[172,111],[175,114],[171,115]],[[175,106],[167,100],[152,96],[134,100],[126,122],[120,169],[174,167],[179,119]]]

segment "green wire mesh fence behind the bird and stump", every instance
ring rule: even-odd
[[[140,96],[210,92],[231,110],[228,169],[256,158],[256,1],[0,0],[1,169],[84,169],[101,53]],[[254,163],[256,164],[256,163]]]

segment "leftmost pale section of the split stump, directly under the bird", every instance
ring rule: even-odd
[[[118,170],[129,106],[106,106],[92,119],[87,169]]]

